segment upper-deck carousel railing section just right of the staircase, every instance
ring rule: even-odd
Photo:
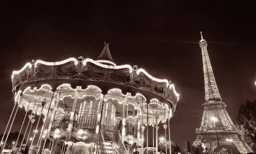
[[[125,136],[131,135],[134,138],[137,138],[137,119],[128,116],[124,117],[125,118]],[[122,130],[122,119],[121,117],[116,117],[116,128],[119,130],[121,133]]]

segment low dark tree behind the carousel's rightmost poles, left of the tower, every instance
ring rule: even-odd
[[[166,144],[167,143],[167,144]],[[166,145],[167,145],[167,154],[170,154],[170,145],[169,140],[163,140],[158,143],[158,151],[161,153],[166,153]],[[181,152],[180,146],[173,140],[171,140],[171,152],[172,154],[177,154]]]

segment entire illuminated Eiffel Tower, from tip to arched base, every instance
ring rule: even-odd
[[[218,145],[231,145],[241,154],[253,153],[251,148],[239,137],[235,125],[227,113],[227,105],[221,100],[207,52],[207,42],[204,40],[202,32],[199,46],[203,56],[205,102],[201,127],[196,128],[197,136],[193,145],[195,147],[203,145],[211,151]],[[215,121],[213,121],[214,119]],[[232,141],[227,141],[227,139],[232,139]]]

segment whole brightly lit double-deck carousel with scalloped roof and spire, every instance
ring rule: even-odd
[[[14,108],[1,153],[19,109],[26,111],[20,134],[29,154],[129,154],[135,149],[142,154],[148,153],[147,138],[152,134],[158,152],[159,122],[170,140],[169,120],[179,99],[171,81],[136,65],[116,65],[109,43],[95,60],[82,56],[59,62],[32,60],[13,71],[12,92]],[[29,134],[35,133],[32,127],[41,133],[28,143]],[[56,151],[57,145],[61,151]],[[14,147],[22,148],[17,142]]]

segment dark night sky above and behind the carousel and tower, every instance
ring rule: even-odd
[[[117,65],[136,64],[154,77],[172,81],[180,100],[171,119],[171,138],[181,147],[187,140],[193,142],[204,110],[200,31],[208,43],[221,98],[235,123],[239,106],[256,98],[254,5],[238,2],[121,0],[2,5],[0,134],[14,105],[13,70],[32,59],[62,61],[80,55],[94,59],[104,40],[110,39]],[[18,111],[11,132],[19,131],[24,114],[24,110]]]

